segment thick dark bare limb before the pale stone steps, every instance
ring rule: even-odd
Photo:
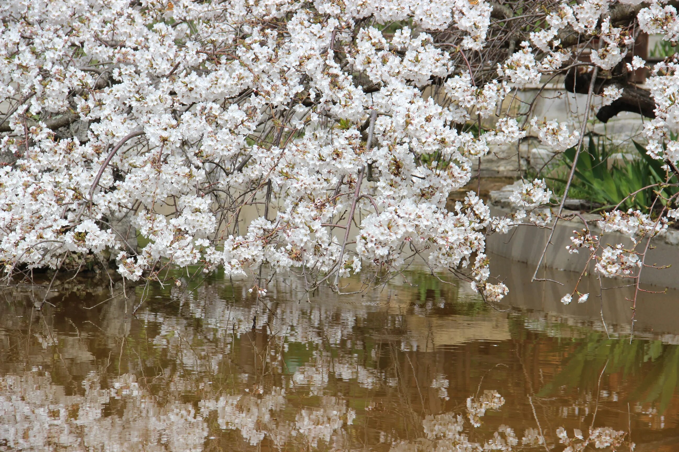
[[[579,73],[575,69],[569,70],[564,80],[566,91],[587,94],[591,77],[591,73]],[[647,118],[655,118],[655,101],[650,96],[649,91],[634,83],[629,83],[626,77],[597,77],[594,81],[594,94],[602,94],[608,86],[621,88],[623,93],[612,104],[600,108],[596,114],[599,121],[607,123],[609,119],[623,111],[638,113]]]

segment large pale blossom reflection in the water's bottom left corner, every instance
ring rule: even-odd
[[[200,451],[208,428],[186,403],[160,406],[132,375],[101,389],[96,373],[83,382],[84,395],[65,395],[48,373],[0,378],[0,440],[9,450]],[[120,400],[120,417],[103,415]]]

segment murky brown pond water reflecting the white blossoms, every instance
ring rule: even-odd
[[[585,450],[679,450],[676,293],[630,341],[621,295],[604,327],[595,295],[562,306],[496,262],[507,312],[422,272],[311,302],[291,276],[257,304],[219,274],[126,301],[71,281],[42,310],[43,287],[6,290],[0,450],[564,451],[574,429]]]

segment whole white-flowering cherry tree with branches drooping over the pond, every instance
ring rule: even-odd
[[[8,277],[115,261],[153,281],[200,266],[265,293],[265,266],[342,291],[362,269],[369,283],[420,261],[496,302],[508,289],[490,279],[485,238],[553,232],[566,195],[527,181],[504,217],[474,191],[446,201],[530,127],[578,158],[589,108],[566,127],[517,96],[555,77],[588,105],[603,98],[601,121],[652,117],[648,152],[668,180],[679,173],[678,63],[656,64],[644,91],[626,80],[646,62],[623,60],[641,32],[679,39],[672,3],[20,0],[0,17]],[[650,240],[676,216],[665,201],[653,218],[607,213],[602,228]],[[601,274],[644,267],[644,250],[600,245],[585,226],[573,250]]]

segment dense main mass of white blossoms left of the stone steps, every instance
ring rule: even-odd
[[[194,264],[346,276],[364,261],[397,269],[402,253],[426,249],[434,268],[473,267],[485,289],[487,262],[474,257],[499,220],[476,194],[448,211],[447,194],[469,181],[487,141],[524,132],[513,120],[485,138],[459,131],[511,88],[473,89],[430,33],[453,26],[462,48],[481,49],[487,2],[56,1],[50,10],[58,14],[40,1],[1,6],[5,271],[92,255],[132,280]],[[380,30],[407,18],[430,33]],[[433,79],[447,79],[456,101],[422,96]],[[379,179],[371,188],[368,169]]]

